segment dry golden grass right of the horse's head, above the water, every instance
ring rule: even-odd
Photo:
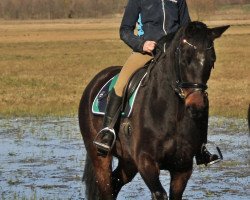
[[[246,41],[249,39],[250,34],[231,35],[229,31],[216,42],[218,59],[209,81],[212,115],[247,115],[250,103],[250,45]]]

